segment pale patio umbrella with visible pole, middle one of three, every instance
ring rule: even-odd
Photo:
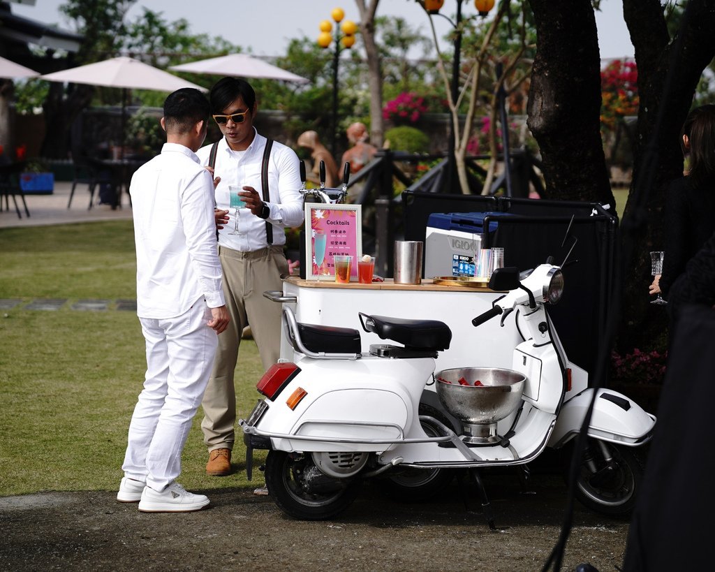
[[[207,91],[204,87],[187,82],[185,79],[169,74],[162,69],[157,69],[127,56],[119,56],[97,61],[94,64],[54,71],[54,73],[40,76],[40,79],[46,79],[49,82],[71,82],[73,84],[120,87],[124,89],[122,94],[122,139],[124,139],[124,124],[126,123],[128,89],[175,92],[177,89],[184,87],[194,87],[202,92]],[[124,144],[122,144],[123,154]]]

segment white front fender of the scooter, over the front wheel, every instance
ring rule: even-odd
[[[646,413],[640,405],[621,393],[589,388],[561,405],[548,440],[549,447],[559,448],[578,435],[594,393],[596,400],[588,426],[589,436],[631,447],[650,440],[656,423],[654,415]]]

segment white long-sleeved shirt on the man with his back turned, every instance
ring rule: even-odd
[[[191,149],[165,143],[129,187],[137,247],[137,315],[182,315],[204,297],[224,305],[213,182]]]

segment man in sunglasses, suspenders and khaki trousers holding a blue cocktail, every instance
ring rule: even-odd
[[[236,394],[234,370],[243,328],[250,323],[264,369],[280,354],[280,304],[263,297],[266,290],[282,290],[288,275],[283,253],[285,227],[303,222],[298,157],[290,147],[273,142],[265,159],[267,139],[253,122],[256,95],[244,79],[225,77],[209,96],[213,119],[222,139],[215,149],[216,221],[219,258],[223,271],[230,325],[219,336],[219,347],[209,384],[204,393],[204,443],[209,449],[206,472],[228,475],[235,440]],[[209,165],[212,145],[199,149],[202,164]],[[267,162],[268,198],[263,198],[262,167]],[[230,207],[230,186],[239,192],[245,207]],[[237,217],[237,218],[236,218]]]

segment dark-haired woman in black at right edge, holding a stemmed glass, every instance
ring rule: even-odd
[[[666,191],[662,273],[654,272],[649,287],[649,293],[659,298],[668,297],[688,260],[715,232],[715,105],[690,112],[683,125],[682,148],[688,168]]]

